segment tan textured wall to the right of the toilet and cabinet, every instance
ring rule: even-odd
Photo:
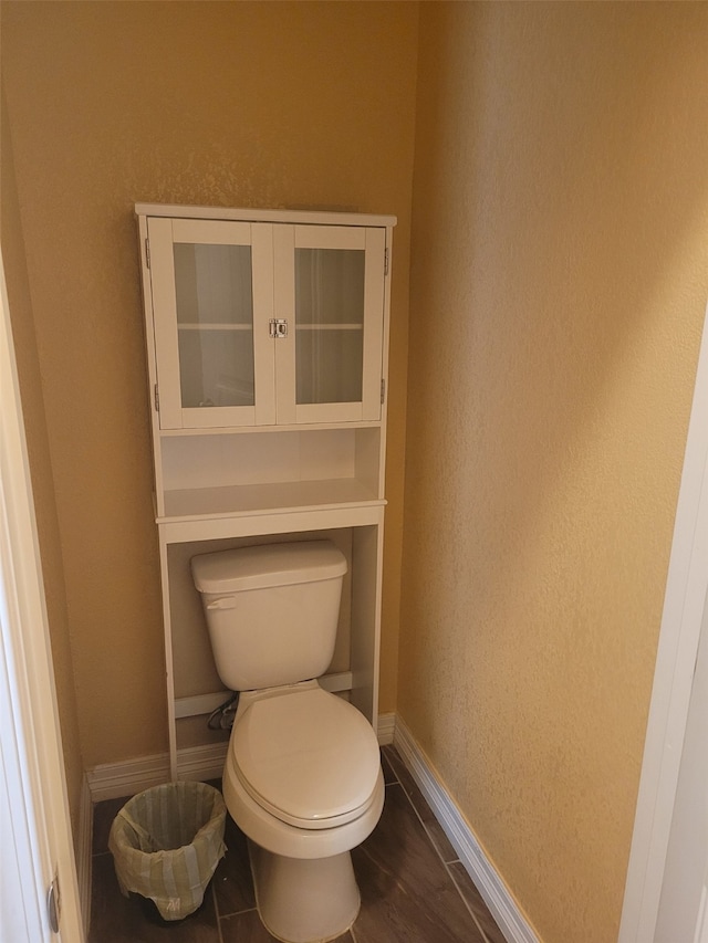
[[[614,943],[708,294],[708,4],[421,8],[400,714]]]

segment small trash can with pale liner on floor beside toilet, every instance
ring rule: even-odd
[[[223,857],[226,806],[206,783],[167,783],[129,799],[111,826],[121,891],[152,900],[163,920],[194,913]]]

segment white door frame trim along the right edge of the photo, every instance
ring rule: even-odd
[[[708,331],[704,331],[618,943],[650,943],[655,936],[707,590]]]

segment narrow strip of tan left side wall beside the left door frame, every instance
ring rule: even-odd
[[[27,276],[24,240],[20,222],[12,140],[7,127],[2,98],[3,133],[0,135],[0,244],[8,286],[10,321],[14,343],[22,416],[31,467],[32,493],[44,577],[46,612],[51,629],[52,662],[56,682],[56,703],[62,731],[66,793],[74,839],[79,838],[79,809],[83,782],[83,761],[79,737],[79,717],[66,617],[61,538],[42,398],[42,380],[32,318],[32,301]]]

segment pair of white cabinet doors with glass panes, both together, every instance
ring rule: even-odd
[[[381,418],[384,228],[147,231],[162,429]]]

